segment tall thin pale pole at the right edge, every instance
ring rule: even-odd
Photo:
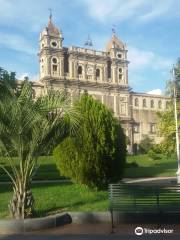
[[[178,116],[177,116],[177,90],[176,90],[176,79],[175,79],[175,72],[174,67],[172,69],[172,77],[173,77],[173,92],[174,92],[174,118],[176,124],[176,155],[177,155],[177,183],[180,184],[180,153],[179,153],[179,132],[178,132]]]

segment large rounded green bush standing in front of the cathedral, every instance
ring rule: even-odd
[[[65,139],[54,150],[61,175],[90,188],[107,187],[121,179],[126,139],[113,113],[87,94],[76,104],[82,122],[76,136]]]

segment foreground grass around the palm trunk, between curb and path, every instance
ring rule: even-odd
[[[32,186],[36,217],[67,211],[106,211],[106,191],[91,191],[72,183],[46,183]],[[8,218],[7,204],[12,197],[10,185],[0,185],[0,218]]]

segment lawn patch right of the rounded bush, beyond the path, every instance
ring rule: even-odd
[[[130,167],[133,162],[137,163],[138,167]],[[153,160],[147,155],[128,156],[127,163],[129,167],[124,173],[127,178],[176,176],[177,161],[173,157],[166,158],[161,155],[160,159]]]

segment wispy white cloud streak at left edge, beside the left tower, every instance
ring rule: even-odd
[[[24,52],[27,54],[36,54],[37,50],[23,36],[12,33],[0,32],[0,47],[6,47],[12,50]]]

